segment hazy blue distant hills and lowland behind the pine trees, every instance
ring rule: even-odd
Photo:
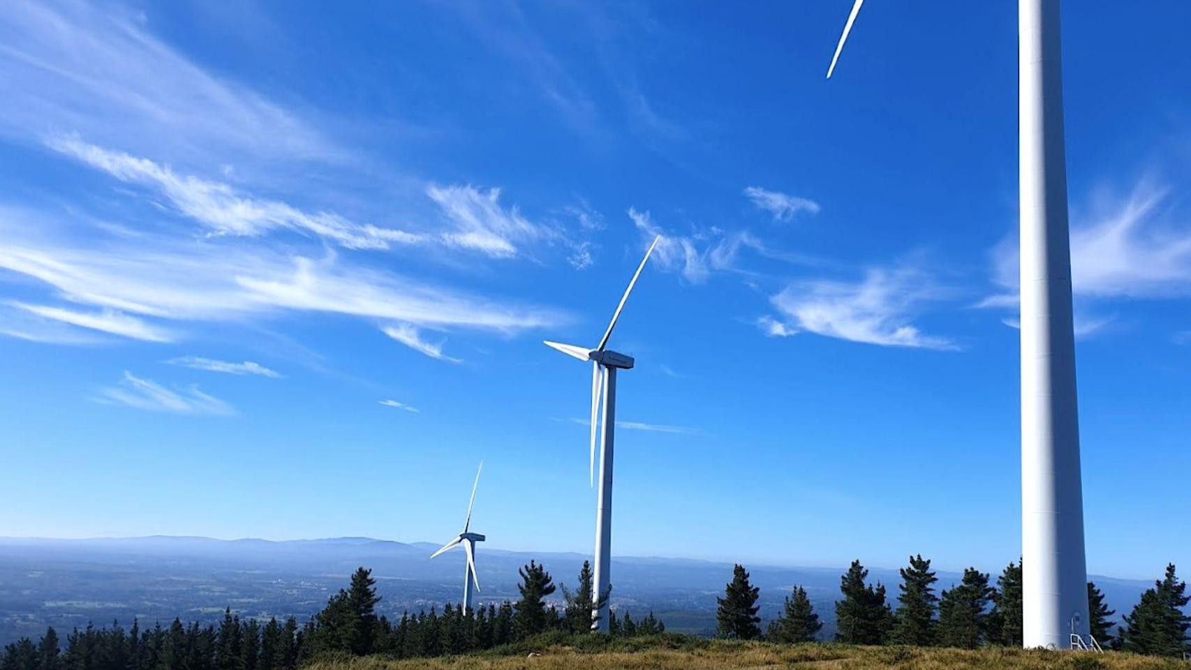
[[[231,608],[241,616],[305,619],[347,584],[360,565],[373,570],[380,609],[400,616],[456,602],[462,590],[463,558],[430,561],[438,545],[373,538],[270,541],[218,540],[152,536],[112,539],[0,538],[0,644],[36,637],[52,625],[142,626],[175,616],[214,621]],[[478,557],[480,603],[516,600],[517,569],[535,559],[555,583],[575,586],[588,556],[484,549]],[[635,615],[657,614],[671,630],[711,633],[716,596],[731,577],[731,564],[686,558],[617,557],[612,561],[612,606]],[[833,603],[840,594],[840,568],[749,565],[761,588],[761,614],[772,618],[793,586],[806,588],[815,608],[834,631]],[[897,570],[871,568],[869,578],[888,587],[896,599]],[[939,587],[959,581],[939,572]],[[993,575],[996,580],[996,575]],[[1110,607],[1127,613],[1151,582],[1095,576]],[[561,599],[561,589],[556,594]]]

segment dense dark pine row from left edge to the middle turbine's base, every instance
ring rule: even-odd
[[[295,670],[323,655],[424,658],[492,649],[551,631],[578,634],[591,630],[590,563],[584,563],[574,591],[562,587],[566,603],[561,610],[547,602],[559,586],[545,568],[531,561],[519,574],[516,602],[466,612],[447,605],[442,613],[405,613],[391,620],[378,615],[376,582],[370,570],[360,568],[350,586],[304,625],[294,618],[262,625],[227,609],[218,625],[183,625],[177,619],[150,630],[141,630],[137,621],[129,630],[118,622],[107,628],[88,625],[67,635],[64,646],[51,627],[37,643],[24,638],[5,646],[0,670]],[[640,620],[628,612],[612,614],[609,626],[617,637],[666,630],[653,613]]]

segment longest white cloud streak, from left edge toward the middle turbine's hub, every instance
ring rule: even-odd
[[[251,244],[77,236],[76,230],[60,231],[54,217],[39,212],[0,208],[0,268],[39,280],[79,305],[174,321],[322,312],[516,333],[566,320],[556,311],[469,295],[335,255],[316,261]],[[130,324],[126,334],[133,332]]]

